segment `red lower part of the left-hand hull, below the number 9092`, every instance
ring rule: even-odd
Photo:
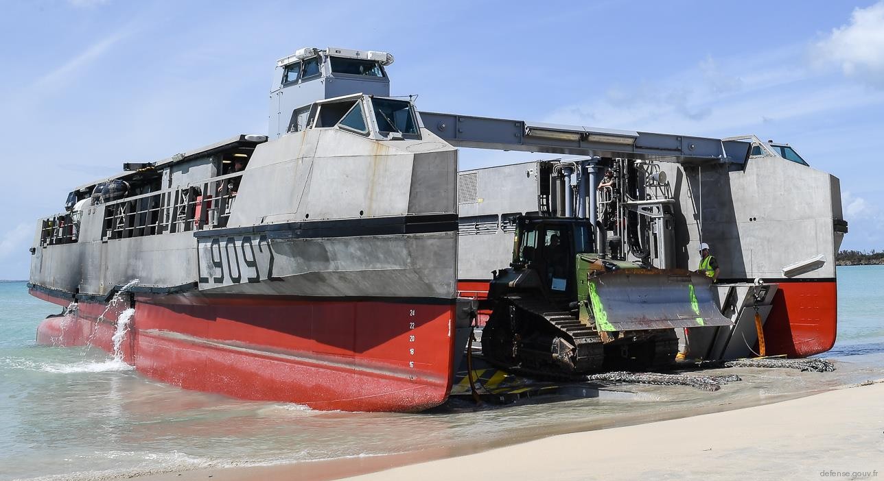
[[[124,360],[175,386],[354,411],[425,410],[451,390],[453,304],[136,296],[134,308]],[[37,342],[111,352],[118,312],[98,319],[104,309],[80,302],[44,320]]]

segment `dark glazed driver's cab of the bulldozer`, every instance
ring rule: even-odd
[[[592,228],[582,219],[520,216],[513,267],[537,272],[548,297],[576,297],[575,257],[594,251]]]

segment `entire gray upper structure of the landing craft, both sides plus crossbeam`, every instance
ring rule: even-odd
[[[734,319],[766,316],[776,282],[834,284],[838,179],[791,147],[418,112],[389,96],[389,64],[348,49],[280,59],[269,136],[75,189],[40,221],[32,287],[105,298],[138,278],[157,294],[453,303],[458,279],[507,266],[512,221],[530,213],[590,219],[598,252],[657,267],[695,269],[712,244]],[[458,173],[457,147],[570,157]],[[599,191],[606,169],[618,187]],[[756,278],[774,285],[747,287]]]

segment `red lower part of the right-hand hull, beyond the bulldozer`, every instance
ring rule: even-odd
[[[771,282],[777,292],[764,326],[766,355],[808,357],[832,349],[838,327],[835,280]],[[458,282],[457,289],[463,297],[484,299],[488,282]]]

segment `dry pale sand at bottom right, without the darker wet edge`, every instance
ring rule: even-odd
[[[884,384],[386,470],[359,480],[884,477]],[[844,473],[847,473],[846,475]]]

